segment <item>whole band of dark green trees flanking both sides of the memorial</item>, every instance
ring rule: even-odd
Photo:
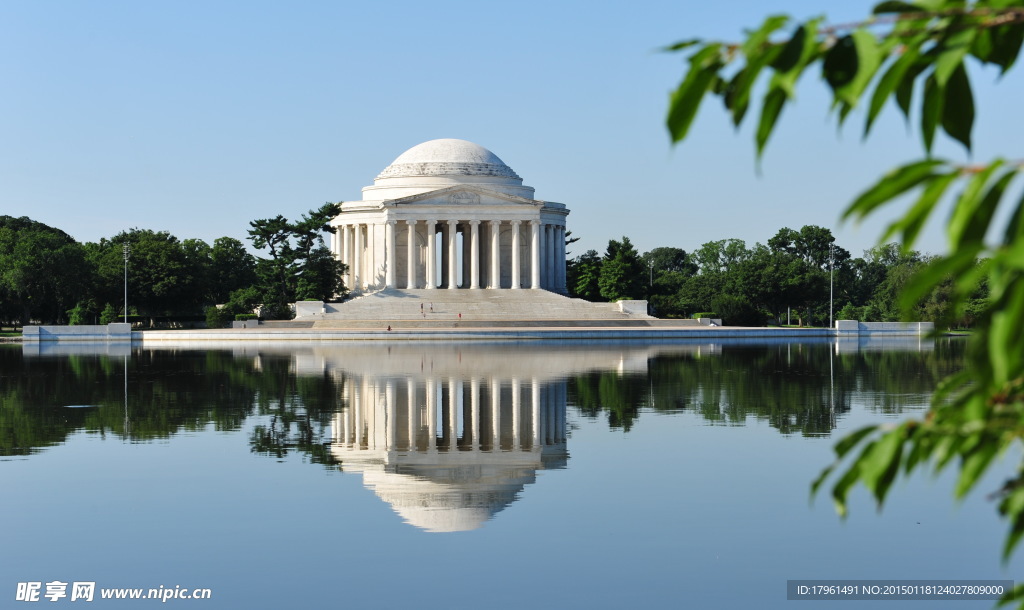
[[[30,218],[0,216],[0,321],[124,319],[126,270],[129,319],[150,326],[203,319],[221,326],[256,310],[267,319],[288,318],[290,303],[331,301],[347,292],[344,265],[325,242],[336,214],[336,204],[325,204],[296,221],[279,215],[250,222],[249,239],[265,258],[233,237],[209,245],[133,228],[80,244]],[[718,239],[691,252],[662,247],[640,254],[624,236],[610,239],[603,255],[590,250],[570,259],[566,284],[571,296],[589,301],[646,299],[659,317],[822,325],[831,293],[835,319],[893,321],[904,315],[903,288],[934,258],[896,244],[853,258],[830,230],[814,225],[783,227],[753,247]],[[922,297],[912,317],[970,326],[987,302],[987,284],[954,306],[952,282],[950,276]]]

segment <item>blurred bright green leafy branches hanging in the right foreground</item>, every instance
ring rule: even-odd
[[[907,212],[883,236],[883,242],[899,236],[908,252],[939,203],[951,200],[953,212],[946,223],[949,254],[929,261],[909,278],[901,304],[904,310],[911,309],[950,276],[954,280],[948,299],[954,310],[977,295],[983,278],[988,300],[977,312],[967,369],[940,384],[926,418],[895,428],[867,427],[836,446],[837,463],[812,488],[835,480],[833,497],[842,514],[855,484],[864,484],[881,505],[899,472],[927,465],[941,470],[956,462],[955,494],[963,496],[996,455],[1012,446],[1019,450],[1024,440],[1020,426],[1024,419],[1024,350],[1020,348],[1024,345],[1024,201],[1004,204],[1024,162],[997,159],[964,165],[931,158],[940,131],[970,150],[975,103],[969,66],[992,64],[1004,74],[1013,67],[1024,42],[1024,0],[888,1],[873,12],[863,23],[831,28],[813,18],[797,25],[788,35],[779,32],[791,24],[790,18],[775,15],[737,44],[685,41],[670,47],[696,47],[668,113],[668,127],[676,142],[686,137],[708,93],[719,95],[733,123],[741,124],[755,83],[762,74],[770,74],[755,135],[759,158],[782,110],[795,97],[797,83],[812,66],[820,66],[831,89],[840,124],[858,102],[867,101],[865,135],[890,98],[909,119],[914,89],[921,91],[920,130],[928,157],[889,172],[857,198],[844,217],[863,218],[901,195],[910,195],[913,203]],[[953,192],[953,184],[962,186],[956,194],[947,195]],[[855,448],[859,453],[850,457]],[[842,474],[831,479],[834,472]],[[1024,535],[1024,465],[997,495],[999,511],[1010,522],[1004,548],[1004,557],[1009,557]],[[1018,597],[1021,593],[1024,585],[1017,587]]]

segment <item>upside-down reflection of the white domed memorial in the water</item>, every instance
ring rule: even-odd
[[[512,373],[494,350],[360,350],[346,359],[332,453],[407,523],[476,529],[539,470],[565,467],[562,355],[538,350]]]

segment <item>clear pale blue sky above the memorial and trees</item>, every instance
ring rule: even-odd
[[[859,255],[892,214],[841,226],[842,209],[920,156],[895,107],[862,142],[863,117],[839,132],[808,74],[759,176],[751,126],[735,132],[717,98],[670,145],[683,55],[656,49],[736,40],[770,12],[857,20],[872,4],[6,0],[0,214],[83,242],[133,226],[245,239],[252,219],[359,199],[407,148],[455,137],[568,205],[573,254],[622,235],[690,251],[818,224]],[[998,86],[974,77],[974,158],[1015,157],[1019,70]],[[948,141],[937,151],[966,159]],[[941,227],[920,247],[941,252]]]

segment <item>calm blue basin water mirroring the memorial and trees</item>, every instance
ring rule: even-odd
[[[951,473],[845,522],[809,499],[845,433],[921,416],[955,339],[0,348],[3,608],[26,582],[72,608],[848,608],[877,603],[786,580],[1022,565],[986,498],[1014,456],[959,504]]]

